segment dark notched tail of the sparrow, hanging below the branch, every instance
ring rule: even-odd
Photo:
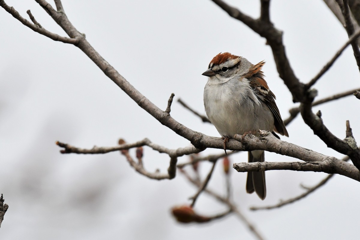
[[[248,152],[248,162],[264,162],[265,152],[263,150],[253,150]],[[266,182],[265,182],[265,172],[248,172],[246,180],[246,192],[256,194],[262,200],[266,197]]]

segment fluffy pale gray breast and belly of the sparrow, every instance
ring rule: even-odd
[[[204,89],[204,105],[208,118],[221,136],[233,137],[248,131],[272,131],[274,128],[273,114],[255,96],[247,81],[222,84],[208,81]]]

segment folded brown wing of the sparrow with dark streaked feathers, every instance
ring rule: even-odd
[[[289,136],[288,131],[285,128],[283,119],[280,116],[278,106],[275,103],[275,95],[267,86],[266,81],[264,80],[264,73],[261,71],[262,66],[265,62],[262,61],[258,64],[253,65],[249,69],[249,73],[245,75],[247,79],[250,80],[250,85],[256,91],[257,96],[266,103],[270,108],[274,116],[274,131],[278,132],[281,135]]]

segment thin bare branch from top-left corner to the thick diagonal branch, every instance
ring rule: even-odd
[[[68,38],[68,37],[62,37],[60,35],[57,35],[56,33],[49,32],[44,27],[40,27],[40,24],[32,24],[31,22],[27,21],[25,18],[21,17],[21,15],[13,8],[8,5],[6,5],[4,0],[0,0],[0,6],[5,9],[6,12],[13,15],[14,18],[18,19],[22,24],[29,27],[31,30],[40,33],[41,35],[44,35],[46,37],[49,37],[50,39],[54,41],[60,41],[64,43],[74,44],[76,45],[79,39],[75,38]],[[31,17],[30,17],[31,18]]]

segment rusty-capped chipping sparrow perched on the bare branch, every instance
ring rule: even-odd
[[[202,75],[209,77],[204,89],[205,111],[226,142],[235,134],[256,134],[258,130],[275,131],[289,136],[275,95],[261,71],[264,61],[255,65],[246,58],[219,53]],[[264,162],[264,151],[248,152],[248,162]],[[246,191],[266,197],[265,172],[248,172]]]

